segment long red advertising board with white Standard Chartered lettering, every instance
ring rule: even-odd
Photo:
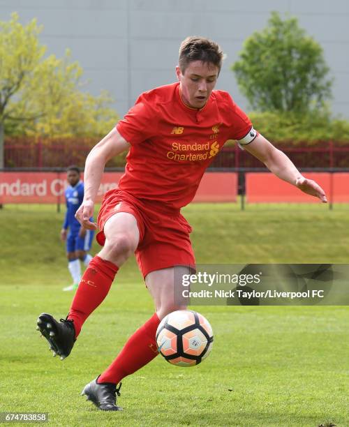
[[[123,172],[105,172],[97,202],[115,188]],[[82,176],[83,177],[83,176]],[[66,172],[0,172],[0,203],[64,203]],[[237,173],[207,173],[195,202],[236,202]]]

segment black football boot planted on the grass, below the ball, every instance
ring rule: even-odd
[[[116,384],[112,382],[102,382],[98,384],[96,378],[85,385],[82,390],[81,396],[86,396],[86,400],[91,400],[98,409],[102,411],[121,411],[122,407],[117,406],[117,396],[120,396],[121,382],[117,389]]]

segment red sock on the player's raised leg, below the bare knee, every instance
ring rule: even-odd
[[[96,255],[87,267],[70,306],[68,320],[73,320],[75,338],[84,321],[105,299],[119,267]]]

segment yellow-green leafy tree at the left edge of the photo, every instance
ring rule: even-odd
[[[11,132],[55,136],[103,135],[117,121],[106,92],[83,92],[82,68],[70,61],[45,57],[36,20],[27,25],[13,13],[0,22],[0,168],[3,141]]]

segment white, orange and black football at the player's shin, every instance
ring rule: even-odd
[[[192,310],[177,310],[161,320],[158,351],[172,365],[194,366],[209,355],[214,336],[207,319]]]

